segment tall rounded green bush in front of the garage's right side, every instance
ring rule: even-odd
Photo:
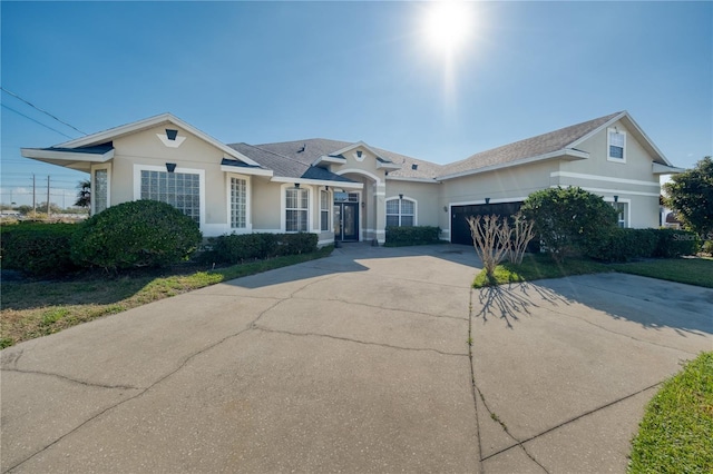
[[[596,251],[602,235],[616,228],[616,210],[582,188],[550,188],[528,196],[520,208],[535,223],[536,238],[556,260]]]

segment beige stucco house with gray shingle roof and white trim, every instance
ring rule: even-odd
[[[223,144],[170,113],[23,157],[87,171],[91,213],[136,199],[169,203],[205,236],[297,233],[383,243],[387,226],[439,226],[469,244],[465,216],[511,214],[533,191],[579,186],[624,227],[657,227],[660,175],[675,168],[622,111],[440,165],[363,141]]]

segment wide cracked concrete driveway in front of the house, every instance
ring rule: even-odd
[[[478,267],[356,245],[4,349],[1,471],[623,472],[713,292]]]

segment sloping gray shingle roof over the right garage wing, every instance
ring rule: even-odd
[[[463,160],[446,165],[440,176],[456,175],[496,165],[515,164],[518,160],[564,150],[585,135],[596,130],[622,112],[560,128],[537,137],[481,151]]]

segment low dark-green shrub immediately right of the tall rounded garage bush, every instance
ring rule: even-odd
[[[603,261],[629,261],[651,258],[658,244],[656,229],[614,228],[587,248],[587,256]]]

